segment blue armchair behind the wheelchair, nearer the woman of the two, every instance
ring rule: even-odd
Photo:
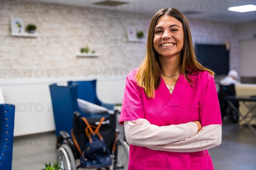
[[[90,103],[97,104],[109,110],[115,109],[115,104],[102,103],[96,94],[96,80],[92,81],[69,81],[69,85],[78,85],[77,98],[80,98]]]

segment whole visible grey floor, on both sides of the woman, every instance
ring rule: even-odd
[[[221,146],[209,150],[215,170],[256,170],[256,136],[230,121],[223,124]],[[55,144],[54,132],[15,137],[12,169],[41,170],[56,160]]]

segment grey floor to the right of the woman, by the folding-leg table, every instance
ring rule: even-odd
[[[256,170],[256,135],[224,121],[221,146],[209,149],[216,170]]]

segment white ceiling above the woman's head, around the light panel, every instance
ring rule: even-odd
[[[228,10],[233,6],[256,5],[256,0],[58,0],[58,2],[97,10],[144,13],[150,17],[161,8],[173,7],[182,11],[188,18],[227,22],[256,20],[255,11],[241,13]]]

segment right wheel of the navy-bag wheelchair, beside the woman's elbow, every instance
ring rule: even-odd
[[[117,141],[117,156],[115,170],[127,170],[129,163],[129,144],[126,141]]]

